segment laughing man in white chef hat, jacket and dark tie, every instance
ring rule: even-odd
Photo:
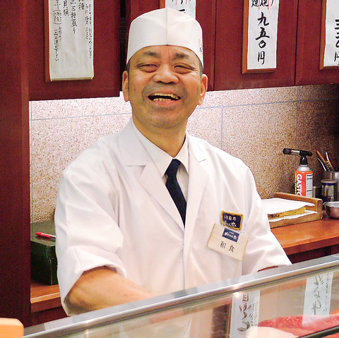
[[[132,119],[64,171],[55,224],[67,313],[287,265],[241,160],[186,132],[203,103],[202,32],[164,8],[131,24]]]

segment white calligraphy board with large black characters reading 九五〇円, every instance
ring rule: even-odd
[[[242,73],[277,68],[279,0],[244,0]]]

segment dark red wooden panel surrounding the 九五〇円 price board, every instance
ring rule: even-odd
[[[217,1],[215,90],[295,84],[297,0],[280,0],[277,68],[273,73],[242,74],[244,1]]]

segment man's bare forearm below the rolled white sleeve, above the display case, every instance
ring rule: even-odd
[[[85,310],[108,308],[155,296],[107,267],[83,272],[68,294],[68,301]]]

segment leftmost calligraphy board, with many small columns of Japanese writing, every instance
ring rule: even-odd
[[[46,81],[93,78],[93,1],[44,0]]]

